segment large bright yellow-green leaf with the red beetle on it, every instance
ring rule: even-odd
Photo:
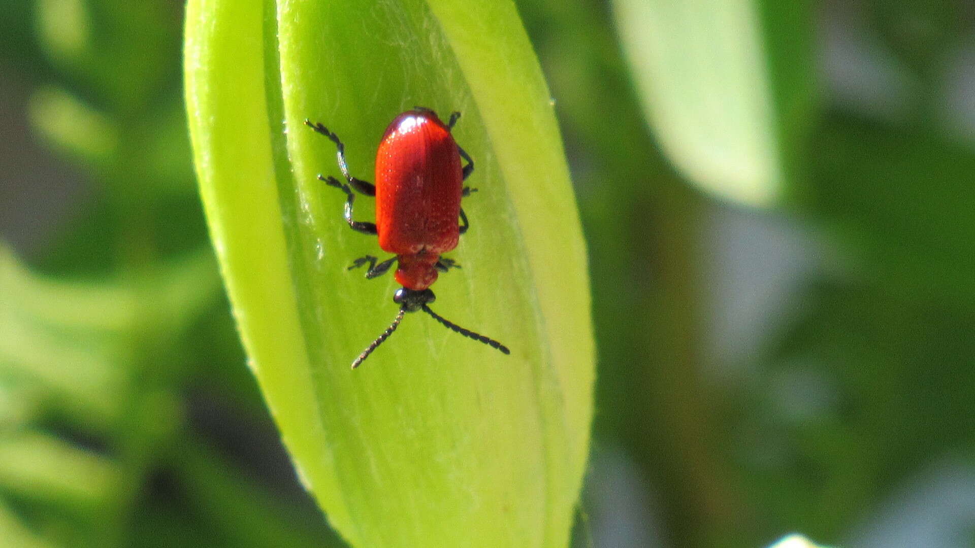
[[[565,546],[588,450],[585,249],[537,61],[507,1],[189,3],[187,105],[201,192],[251,365],[299,476],[354,546]],[[504,356],[396,313],[375,240],[316,179],[372,154],[399,112],[460,110],[480,192],[436,310]],[[356,215],[368,218],[368,200]]]

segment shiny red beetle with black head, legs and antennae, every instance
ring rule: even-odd
[[[500,342],[465,330],[427,306],[436,299],[430,286],[437,281],[439,272],[460,268],[443,254],[457,247],[460,235],[470,226],[460,207],[460,199],[477,190],[463,186],[463,181],[474,172],[474,161],[450,135],[458,118],[460,113],[453,112],[445,125],[436,112],[420,106],[394,118],[379,141],[375,184],[349,173],[345,145],[338,136],[320,123],[304,121],[312,130],[329,137],[338,149],[338,169],[346,183],[333,176],[320,175],[318,178],[345,193],[345,222],[357,232],[378,236],[379,247],[394,254],[378,263],[377,257],[368,254],[355,259],[348,269],[368,263],[366,278],[372,279],[385,274],[394,262],[399,262],[395,276],[403,287],[393,295],[393,302],[400,305],[400,312],[386,331],[352,362],[352,369],[362,365],[372,351],[396,331],[407,312],[417,310],[426,312],[455,333],[484,342],[504,354],[511,353]],[[466,166],[461,166],[461,159],[467,162]],[[352,218],[356,199],[353,189],[375,197],[374,223]]]

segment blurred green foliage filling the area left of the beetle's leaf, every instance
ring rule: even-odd
[[[248,447],[278,443],[193,184],[181,11],[44,0],[0,15],[0,71],[32,87],[20,116],[86,180],[43,248],[0,244],[0,545],[337,545],[293,479],[268,485],[281,453]],[[235,440],[227,422],[259,434]]]

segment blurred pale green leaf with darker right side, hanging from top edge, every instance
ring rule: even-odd
[[[753,206],[793,194],[813,106],[808,3],[614,4],[643,109],[683,175]]]

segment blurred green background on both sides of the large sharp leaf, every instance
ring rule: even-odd
[[[755,547],[798,530],[975,546],[975,7],[680,5],[518,2],[593,280],[575,544]],[[2,546],[342,545],[293,476],[222,294],[182,8],[0,10]],[[735,9],[758,14],[761,70],[677,48],[696,32],[746,51]],[[654,21],[670,35],[643,42]],[[774,192],[736,190],[736,166],[680,147],[695,120],[666,99],[695,62],[730,67],[696,84],[711,111],[687,99],[716,113],[705,126],[768,95],[778,169],[745,180]],[[762,121],[741,128],[713,138],[742,144]]]

